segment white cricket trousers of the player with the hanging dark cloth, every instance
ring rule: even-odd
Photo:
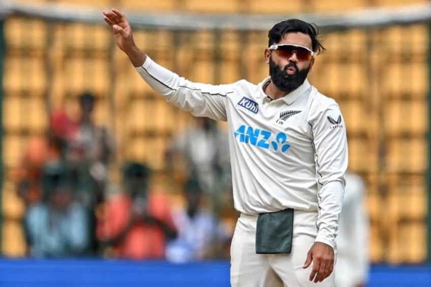
[[[241,214],[231,244],[230,282],[232,287],[333,287],[334,272],[323,282],[309,280],[313,263],[302,269],[317,236],[317,212],[295,210],[292,252],[256,254],[257,215]]]

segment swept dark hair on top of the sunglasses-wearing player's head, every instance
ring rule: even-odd
[[[319,27],[316,24],[307,23],[299,19],[289,19],[276,23],[268,32],[268,47],[279,43],[287,33],[297,32],[310,36],[312,49],[317,54],[326,50],[318,40]]]

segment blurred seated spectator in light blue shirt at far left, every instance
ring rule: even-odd
[[[64,164],[44,167],[42,201],[30,206],[25,218],[32,256],[69,257],[87,251],[87,212],[74,200],[72,184],[71,172]]]

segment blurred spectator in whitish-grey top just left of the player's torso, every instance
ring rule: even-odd
[[[172,172],[185,170],[186,177],[198,182],[203,196],[210,199],[208,207],[216,221],[223,220],[224,213],[232,212],[229,143],[217,121],[197,117],[186,132],[173,138],[166,155]]]

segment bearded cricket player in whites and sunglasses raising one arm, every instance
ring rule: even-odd
[[[228,122],[234,207],[241,214],[231,285],[333,286],[348,153],[340,108],[306,79],[324,50],[317,27],[298,19],[275,24],[263,53],[269,77],[257,85],[210,85],[161,67],[137,47],[123,13],[103,14],[119,49],[166,101]]]

